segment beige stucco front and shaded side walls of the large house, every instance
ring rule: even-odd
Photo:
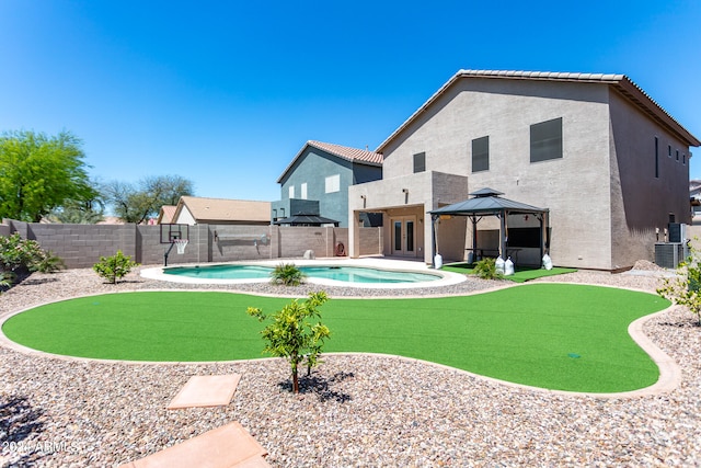
[[[563,158],[531,163],[530,126],[559,117]],[[484,136],[490,137],[490,169],[472,173],[471,141]],[[625,269],[652,260],[655,228],[664,229],[669,214],[689,222],[689,148],[605,83],[458,80],[382,150],[384,180],[372,186],[368,199],[383,199],[384,193],[397,192],[398,181],[416,178],[413,155],[425,152],[427,172],[462,175],[470,191],[490,186],[507,198],[548,208],[556,265]],[[427,192],[422,196],[427,204],[438,198]],[[469,243],[470,229],[466,235]]]

